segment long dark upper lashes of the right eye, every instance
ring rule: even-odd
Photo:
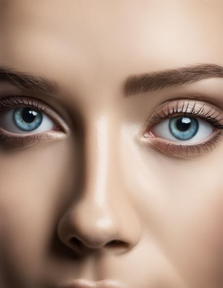
[[[205,104],[199,109],[198,112],[195,112],[195,107],[196,107],[196,102],[194,103],[193,107],[190,109],[190,111],[188,110],[188,106],[189,106],[189,101],[187,103],[187,107],[186,110],[183,111],[184,109],[184,101],[183,101],[183,106],[181,109],[178,108],[178,101],[176,102],[176,108],[174,109],[174,105],[172,105],[171,109],[168,106],[167,103],[167,113],[165,113],[164,109],[162,109],[162,112],[164,115],[158,114],[156,111],[154,111],[153,115],[151,116],[154,120],[155,123],[152,122],[151,120],[147,119],[147,123],[148,124],[157,124],[165,119],[170,118],[173,115],[182,115],[182,116],[197,116],[198,118],[207,121],[211,124],[213,124],[216,128],[218,129],[223,129],[223,117],[221,119],[217,119],[219,117],[219,115],[221,115],[221,113],[217,114],[215,117],[212,117],[212,115],[214,115],[214,113],[216,111],[214,111],[214,113],[212,113],[211,115],[209,114],[214,108],[211,108],[208,112],[204,112],[204,106]]]

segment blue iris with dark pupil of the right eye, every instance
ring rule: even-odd
[[[176,116],[169,120],[171,134],[179,140],[189,140],[197,133],[199,123],[196,118]]]

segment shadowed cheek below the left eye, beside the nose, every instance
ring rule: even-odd
[[[0,155],[1,249],[17,275],[30,277],[56,228],[69,165],[62,147],[31,150]]]

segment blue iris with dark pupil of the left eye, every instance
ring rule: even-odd
[[[18,107],[13,111],[15,125],[23,131],[32,131],[40,126],[43,114],[30,107]]]

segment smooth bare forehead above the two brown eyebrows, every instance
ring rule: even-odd
[[[0,62],[58,81],[87,79],[91,87],[132,73],[221,64],[222,8],[210,0],[1,1]]]

